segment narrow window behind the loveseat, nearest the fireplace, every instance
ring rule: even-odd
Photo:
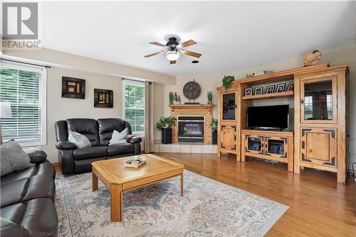
[[[122,80],[123,117],[130,122],[132,133],[145,132],[145,83]]]

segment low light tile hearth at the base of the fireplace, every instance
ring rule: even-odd
[[[167,153],[212,153],[216,154],[216,144],[155,144],[155,152]]]

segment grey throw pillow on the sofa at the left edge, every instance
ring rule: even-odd
[[[6,142],[0,146],[1,176],[30,166],[30,157],[14,141]]]

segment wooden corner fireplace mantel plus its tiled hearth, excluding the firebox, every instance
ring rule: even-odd
[[[211,118],[214,105],[169,105],[171,117],[179,116],[203,116],[204,143],[178,143],[177,124],[172,127],[173,144],[155,144],[155,152],[170,153],[216,153],[216,145],[211,144]]]

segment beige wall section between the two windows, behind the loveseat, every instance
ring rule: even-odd
[[[85,99],[62,98],[62,76],[85,80]],[[94,88],[114,91],[114,107],[94,107]],[[54,123],[68,118],[121,117],[122,80],[105,75],[83,73],[63,68],[48,68],[47,72],[47,145],[42,149],[51,162],[58,162]]]

